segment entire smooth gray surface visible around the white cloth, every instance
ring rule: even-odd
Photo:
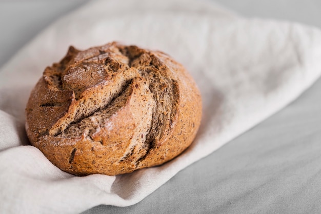
[[[58,16],[85,1],[0,2],[0,66]],[[217,2],[247,16],[321,27],[317,0]],[[294,103],[180,171],[142,202],[84,213],[320,213],[320,91],[319,80]]]

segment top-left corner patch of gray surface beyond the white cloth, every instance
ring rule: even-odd
[[[85,2],[0,0],[0,67],[46,26]]]

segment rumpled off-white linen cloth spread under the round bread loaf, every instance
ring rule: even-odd
[[[75,177],[22,146],[28,144],[24,109],[44,68],[69,45],[110,41],[160,49],[185,65],[202,92],[202,125],[194,143],[162,166]],[[210,2],[91,2],[49,26],[0,71],[0,212],[79,213],[99,204],[135,204],[297,98],[320,75],[319,59],[321,33],[312,27],[248,20]]]

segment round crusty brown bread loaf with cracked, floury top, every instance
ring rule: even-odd
[[[60,169],[123,174],[183,152],[200,125],[200,93],[185,68],[159,51],[109,43],[47,67],[31,92],[31,144]]]

